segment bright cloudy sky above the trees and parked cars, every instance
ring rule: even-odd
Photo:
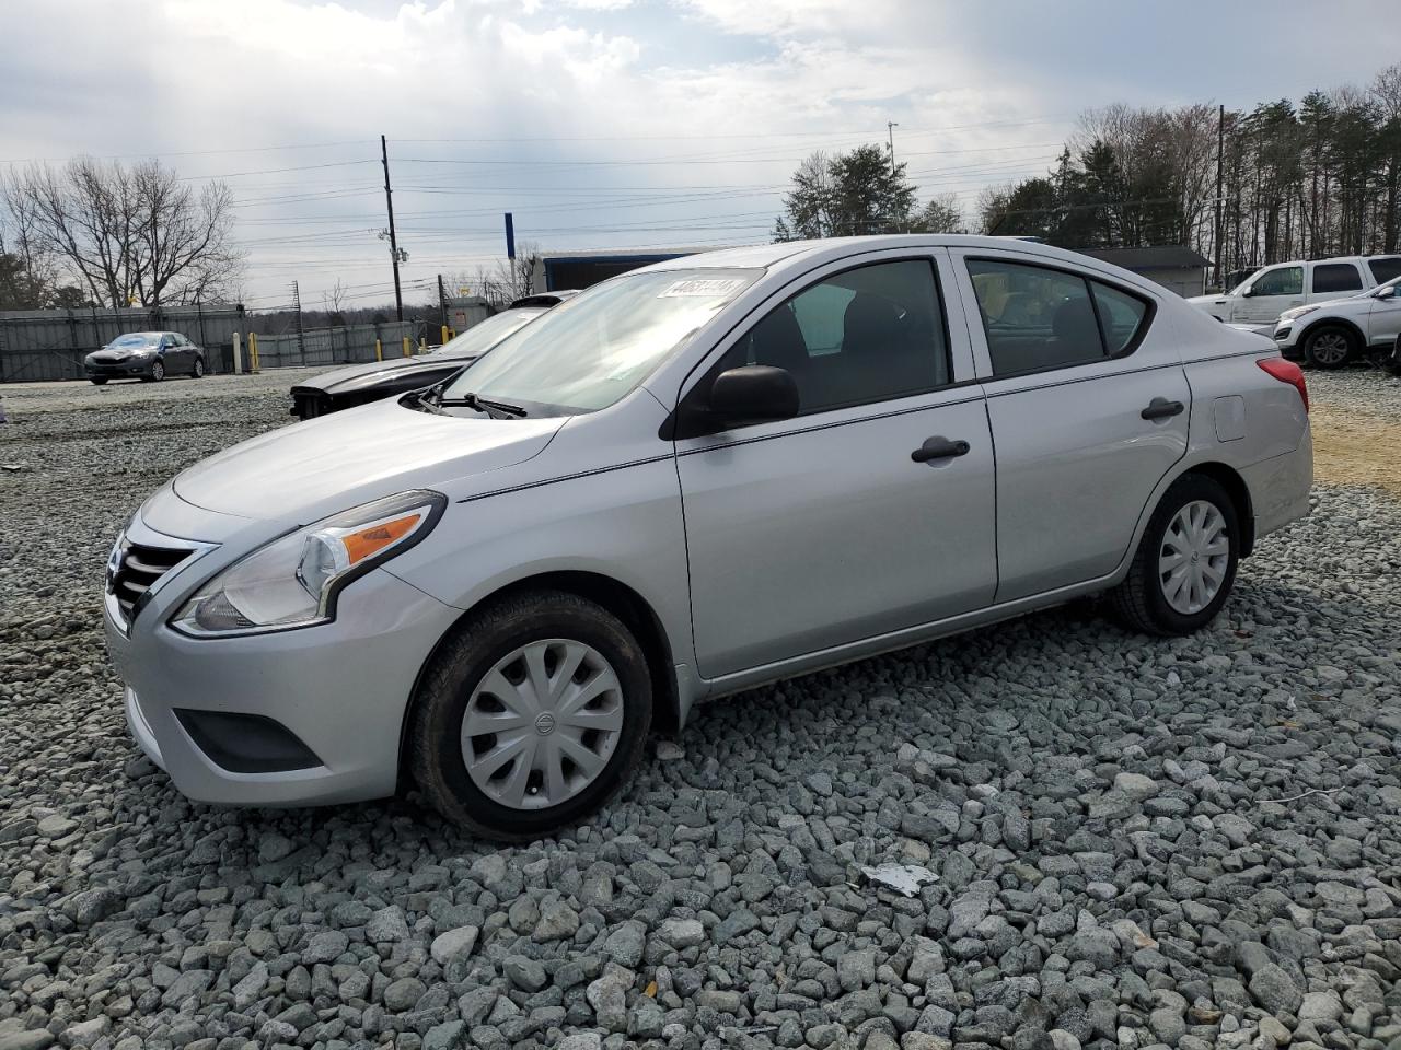
[[[799,161],[884,143],[920,199],[1044,172],[1087,108],[1248,108],[1401,56],[1390,0],[0,0],[0,167],[221,178],[241,293],[406,301],[506,253],[768,239]]]

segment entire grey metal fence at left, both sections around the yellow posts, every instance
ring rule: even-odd
[[[398,357],[405,337],[416,342],[425,335],[410,321],[263,335],[258,318],[242,307],[0,311],[0,382],[83,379],[83,358],[123,332],[179,332],[205,347],[205,368],[214,374],[234,370],[235,333],[245,346],[244,368],[248,332],[258,333],[262,368],[373,361],[375,340],[384,357]],[[436,342],[436,333],[426,335]]]

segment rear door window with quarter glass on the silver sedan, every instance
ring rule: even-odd
[[[1103,361],[1131,351],[1147,323],[1138,295],[1063,270],[969,259],[993,375]]]

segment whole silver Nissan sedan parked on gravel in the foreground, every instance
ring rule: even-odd
[[[108,638],[192,798],[412,781],[528,839],[706,697],[1100,591],[1202,627],[1309,510],[1307,409],[1269,340],[1038,244],[689,256],[185,470],[112,550]]]

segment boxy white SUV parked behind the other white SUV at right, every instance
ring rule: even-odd
[[[1335,300],[1401,277],[1401,255],[1348,255],[1264,266],[1230,291],[1187,300],[1217,321],[1269,335],[1286,309]]]

